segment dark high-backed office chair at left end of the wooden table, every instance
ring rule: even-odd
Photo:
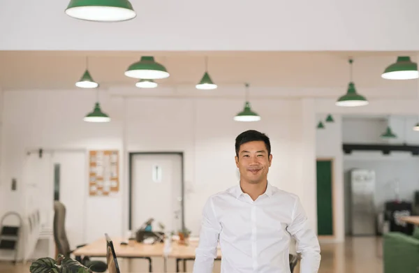
[[[55,246],[57,246],[58,253],[64,255],[64,257],[70,258],[73,251],[70,249],[70,244],[68,243],[67,234],[66,234],[66,207],[63,203],[59,201],[54,201],[54,241]],[[76,249],[84,246],[76,246]],[[76,258],[76,260],[78,260]],[[107,270],[106,263],[102,261],[90,260],[88,257],[84,257],[83,260],[78,260],[85,267],[89,267],[93,272],[105,272]]]

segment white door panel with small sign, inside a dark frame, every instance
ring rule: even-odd
[[[182,156],[134,154],[131,161],[131,229],[150,218],[152,228],[176,232],[182,228]]]

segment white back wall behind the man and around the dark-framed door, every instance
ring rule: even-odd
[[[235,137],[254,128],[267,133],[274,155],[269,179],[274,186],[297,193],[316,226],[315,124],[313,101],[286,100],[253,103],[262,116],[258,123],[237,123],[233,116],[243,101],[177,98],[110,98],[101,92],[101,105],[112,121],[88,124],[94,91],[6,91],[3,115],[1,192],[9,209],[22,211],[22,163],[25,149],[119,149],[126,152],[184,152],[185,220],[194,234],[200,228],[205,199],[237,183]],[[126,100],[126,101],[124,101]],[[121,156],[121,191],[115,197],[88,198],[85,237],[123,235],[128,224],[126,157]],[[125,170],[125,171],[124,171]],[[18,191],[10,193],[17,177]],[[64,194],[64,193],[62,193]],[[9,198],[10,197],[10,198]],[[110,221],[121,219],[120,221]]]

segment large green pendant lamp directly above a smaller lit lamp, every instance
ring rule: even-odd
[[[154,61],[152,56],[143,56],[140,61],[131,64],[125,71],[125,75],[135,79],[165,79],[170,76],[166,67]]]

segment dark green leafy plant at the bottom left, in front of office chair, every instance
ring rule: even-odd
[[[53,258],[39,258],[29,268],[31,273],[92,273],[92,271],[72,258],[59,254]]]

